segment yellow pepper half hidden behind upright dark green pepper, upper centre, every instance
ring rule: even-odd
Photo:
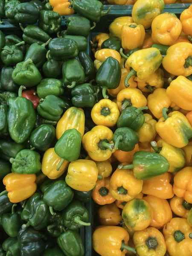
[[[121,55],[119,52],[113,49],[101,49],[99,51],[96,51],[95,53],[96,60],[94,61],[94,65],[96,70],[99,70],[99,67],[101,66],[101,64],[104,61],[106,61],[108,57],[113,57],[117,61],[119,61],[119,63],[121,63]]]

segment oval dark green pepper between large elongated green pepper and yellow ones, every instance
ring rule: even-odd
[[[29,137],[29,143],[32,148],[36,148],[40,151],[46,151],[50,148],[50,145],[55,138],[55,133],[55,127],[52,125],[39,125],[32,131]]]

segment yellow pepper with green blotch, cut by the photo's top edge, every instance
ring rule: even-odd
[[[164,7],[164,0],[148,0],[145,3],[142,0],[137,0],[132,9],[134,22],[148,29],[154,18],[163,12]]]

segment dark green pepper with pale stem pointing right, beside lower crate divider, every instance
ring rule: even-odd
[[[80,227],[90,226],[90,223],[87,222],[89,212],[81,202],[76,199],[64,209],[62,218],[64,226],[70,230],[79,230]]]

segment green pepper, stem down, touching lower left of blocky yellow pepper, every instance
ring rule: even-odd
[[[51,214],[53,209],[61,211],[67,207],[73,200],[74,193],[72,189],[67,186],[64,180],[58,180],[52,183],[44,192],[44,201],[49,205]]]

